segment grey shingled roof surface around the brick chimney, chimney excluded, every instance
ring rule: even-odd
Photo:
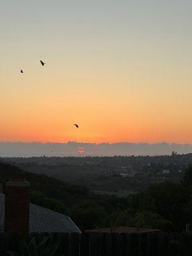
[[[2,193],[0,193],[0,232],[4,232],[4,194]],[[29,232],[81,233],[67,215],[35,204],[29,205]]]

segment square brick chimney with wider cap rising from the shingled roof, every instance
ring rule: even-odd
[[[4,185],[4,232],[29,232],[29,186],[25,178],[10,178]]]

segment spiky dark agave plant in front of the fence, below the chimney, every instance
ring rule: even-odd
[[[58,253],[59,244],[49,244],[48,239],[49,236],[43,237],[40,243],[36,242],[35,237],[29,243],[20,240],[19,252],[8,251],[7,253],[11,256],[62,256],[61,253]]]

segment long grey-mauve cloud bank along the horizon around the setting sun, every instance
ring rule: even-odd
[[[84,148],[84,153],[79,153],[78,148]],[[170,155],[172,151],[179,154],[192,152],[190,144],[175,143],[21,143],[0,142],[0,156],[131,156],[131,155]]]

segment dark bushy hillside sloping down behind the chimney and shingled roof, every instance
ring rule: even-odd
[[[95,195],[83,186],[76,186],[42,174],[25,172],[12,164],[0,163],[0,183],[22,175],[31,183],[31,202],[68,214],[82,230],[109,225],[110,215],[127,207],[125,198]]]

